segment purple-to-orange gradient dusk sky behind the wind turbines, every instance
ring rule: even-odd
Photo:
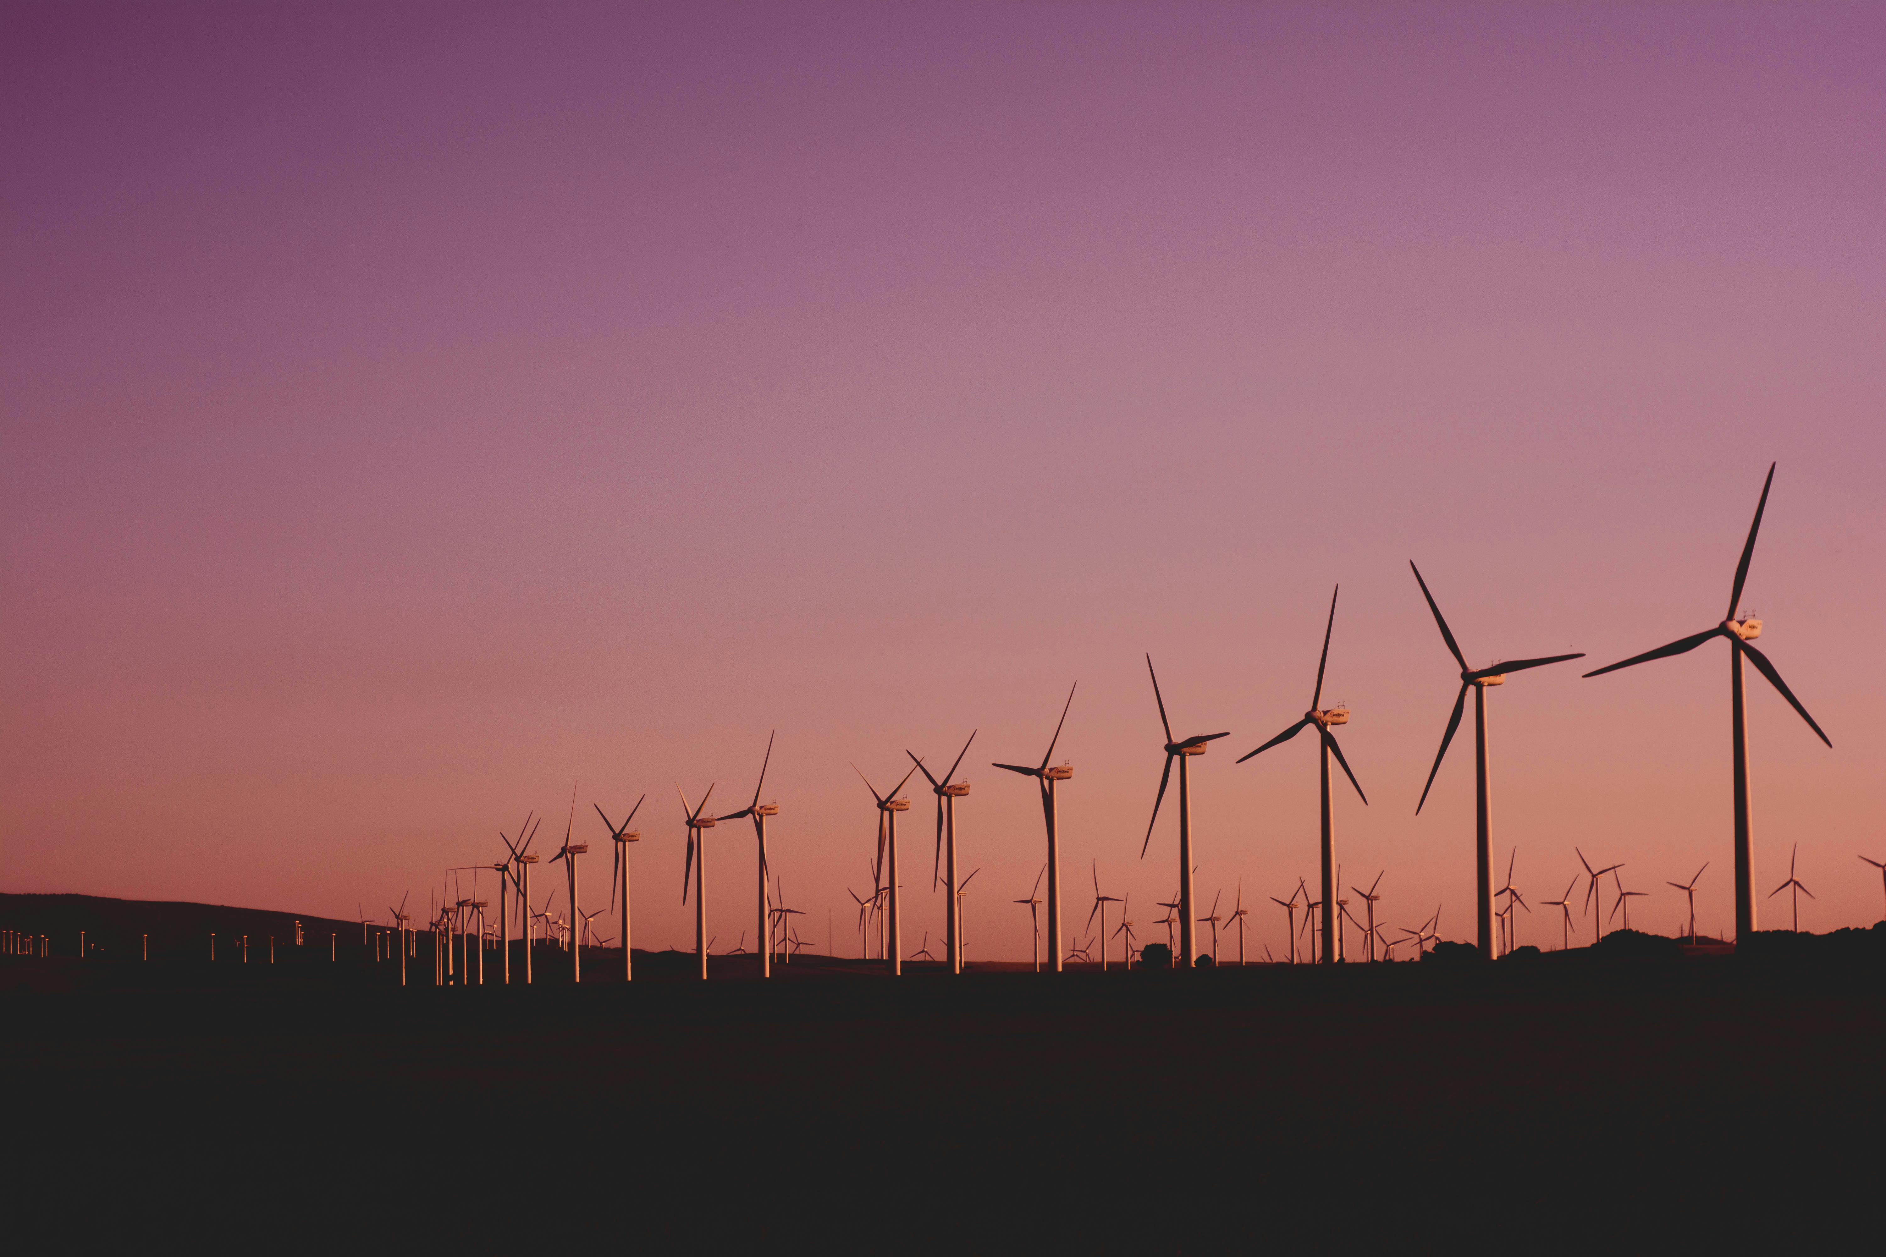
[[[979,729],[969,959],[1020,959],[1041,814],[988,761],[1079,680],[1067,912],[1098,861],[1164,939],[1150,652],[1175,733],[1232,729],[1199,895],[1281,954],[1315,748],[1233,759],[1341,582],[1345,886],[1465,939],[1414,560],[1475,665],[1590,656],[1490,695],[1520,940],[1575,844],[1665,933],[1711,861],[1726,931],[1726,646],[1579,671],[1722,616],[1777,460],[1745,605],[1833,750],[1750,673],[1758,891],[1799,842],[1803,927],[1871,923],[1882,49],[1860,4],[9,4],[0,888],[424,908],[577,782],[594,852],[649,793],[636,942],[690,946],[675,784],[741,807],[777,727],[775,869],[849,952],[851,761]],[[753,882],[722,829],[719,950]]]

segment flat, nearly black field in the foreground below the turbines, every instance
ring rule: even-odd
[[[1873,1248],[1877,967],[1545,959],[13,982],[8,1227],[13,1251]]]

